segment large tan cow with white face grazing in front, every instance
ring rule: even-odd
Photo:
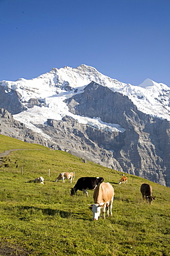
[[[114,188],[110,183],[100,183],[94,190],[94,204],[89,205],[89,209],[93,212],[93,219],[97,221],[100,217],[100,210],[103,208],[103,219],[105,219],[105,210],[107,210],[107,217],[112,216],[112,204],[114,201]]]

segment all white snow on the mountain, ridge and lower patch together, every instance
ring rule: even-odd
[[[34,125],[45,124],[48,118],[61,120],[65,115],[98,129],[125,131],[118,124],[107,124],[100,118],[82,117],[70,113],[64,100],[77,93],[82,93],[85,86],[92,81],[107,86],[114,92],[127,95],[143,113],[170,121],[170,89],[166,84],[153,82],[150,79],[146,79],[138,86],[125,84],[84,64],[77,68],[68,66],[60,69],[52,68],[49,73],[32,80],[20,78],[15,82],[2,81],[0,86],[5,86],[6,92],[18,91],[21,95],[21,102],[25,105],[32,98],[38,98],[45,102],[43,107],[34,106],[32,109],[14,115],[16,120],[23,122],[28,128],[39,134],[42,134],[42,131]],[[44,134],[44,136],[47,135]]]

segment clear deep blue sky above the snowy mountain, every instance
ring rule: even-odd
[[[81,64],[170,86],[170,0],[0,0],[0,81]]]

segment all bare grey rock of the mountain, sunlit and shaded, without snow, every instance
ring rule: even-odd
[[[72,89],[67,83],[65,86],[67,90]],[[41,124],[36,122],[34,126],[38,132],[35,132],[14,120],[11,113],[34,109],[35,106],[36,111],[46,111],[50,103],[37,97],[23,102],[21,94],[14,90],[14,86],[12,88],[0,86],[1,134],[64,150],[105,167],[170,186],[170,122],[167,120],[142,113],[127,96],[91,82],[82,93],[65,100],[70,109],[67,116],[62,120],[48,118]],[[124,131],[80,123],[71,117],[71,113],[118,124]]]

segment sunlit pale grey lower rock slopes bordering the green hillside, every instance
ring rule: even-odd
[[[12,115],[5,109],[0,109],[0,134],[17,138],[28,143],[37,143],[52,149],[63,150],[85,161],[94,161],[105,167],[116,168],[123,172],[118,161],[114,159],[113,153],[109,152],[92,140],[92,137],[99,136],[101,139],[116,137],[116,133],[106,132],[89,125],[82,125],[74,118],[65,116],[63,120],[57,121],[48,119],[47,125],[37,125],[45,135],[40,136],[28,129],[23,123],[14,120]]]

